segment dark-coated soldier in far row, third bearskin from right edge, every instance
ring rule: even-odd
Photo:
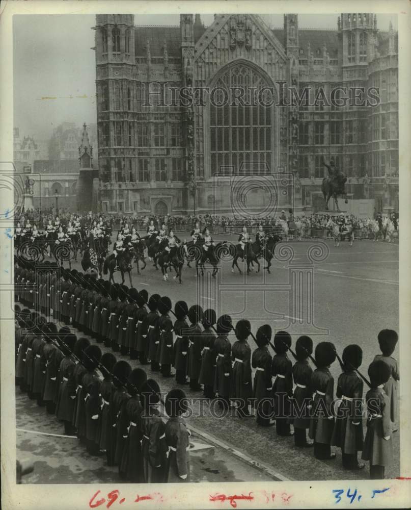
[[[344,372],[338,377],[337,398],[341,398],[334,426],[331,444],[339,446],[342,464],[345,469],[363,469],[364,464],[358,462],[357,452],[363,449],[363,379],[355,369],[361,366],[363,350],[359,345],[347,345],[343,350],[342,361]]]

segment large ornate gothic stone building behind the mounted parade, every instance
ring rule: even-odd
[[[94,29],[103,212],[232,212],[227,182],[282,173],[276,207],[315,211],[323,207],[323,155],[348,176],[351,198],[398,210],[398,36],[392,27],[378,31],[374,15],[342,14],[336,30],[299,30],[296,14],[284,16],[283,29],[253,14],[218,14],[207,28],[192,14],[179,27],[135,27],[133,15],[101,14]],[[377,87],[380,101],[217,107],[170,98],[182,87],[261,91],[278,82],[328,97],[337,86]],[[250,192],[239,187],[235,200],[249,212],[272,194],[261,195],[258,182]]]

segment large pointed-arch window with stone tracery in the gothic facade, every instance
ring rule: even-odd
[[[272,107],[265,107],[258,101],[258,91],[267,87],[271,85],[262,75],[243,63],[230,66],[213,84],[216,92],[214,101],[210,101],[212,174],[228,173],[230,168],[229,173],[238,173],[241,169],[253,171],[253,168],[255,173],[261,173],[262,168],[272,171]],[[239,97],[241,91],[242,102],[251,106],[242,106],[239,100],[232,106],[232,97]],[[269,104],[270,100],[272,103],[271,92],[266,91],[262,96],[261,103]],[[219,104],[223,106],[216,106]]]

